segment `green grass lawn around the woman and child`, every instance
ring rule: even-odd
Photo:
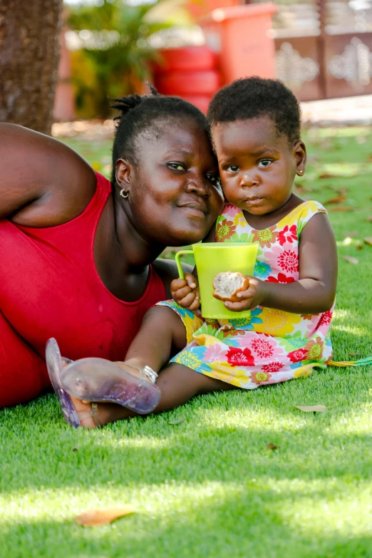
[[[306,140],[301,194],[323,202],[335,195],[329,187],[346,187],[342,205],[353,207],[330,212],[340,256],[335,358],[367,356],[372,247],[359,250],[358,240],[372,236],[365,220],[372,215],[372,135],[366,128],[310,130]],[[109,164],[109,143],[69,143]],[[319,180],[324,172],[349,177]],[[344,241],[348,232],[357,233],[352,242]],[[96,431],[70,428],[52,395],[2,410],[0,555],[372,557],[371,391],[371,367],[329,368]],[[316,403],[334,408],[315,415],[293,406]],[[170,418],[185,420],[170,425]],[[279,448],[267,450],[267,443]],[[137,512],[112,525],[73,521],[87,508],[125,503]]]

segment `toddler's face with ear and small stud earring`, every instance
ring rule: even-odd
[[[218,123],[212,135],[227,200],[253,215],[279,210],[304,173],[304,143],[289,145],[267,116]]]

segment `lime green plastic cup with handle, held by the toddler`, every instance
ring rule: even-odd
[[[200,287],[202,316],[209,319],[239,319],[250,316],[250,310],[232,312],[224,303],[213,296],[213,279],[221,272],[240,272],[253,275],[259,244],[248,242],[205,242],[192,244],[192,250],[180,250],[176,254],[180,278],[184,279],[180,257],[182,254],[193,254],[197,267]]]

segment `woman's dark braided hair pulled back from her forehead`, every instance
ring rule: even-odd
[[[150,95],[128,95],[128,97],[112,99],[112,108],[121,113],[115,116],[116,126],[115,140],[113,143],[113,172],[111,183],[115,186],[115,165],[120,158],[127,159],[138,165],[137,138],[140,134],[151,128],[155,123],[168,118],[192,118],[200,125],[202,130],[208,131],[207,118],[192,105],[179,97],[167,97],[157,93],[155,87],[148,83]]]

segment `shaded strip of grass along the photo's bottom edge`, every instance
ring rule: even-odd
[[[325,495],[322,491],[279,494],[254,485],[247,490],[231,487],[224,495],[189,502],[181,509],[177,505],[165,513],[159,508],[138,509],[135,515],[113,525],[93,529],[72,521],[19,522],[1,529],[0,542],[3,555],[14,558],[371,557],[371,537],[347,536],[340,522],[319,527],[319,521],[314,526],[310,520],[299,525],[291,505],[304,505],[306,517],[307,500],[301,502],[303,497]],[[73,515],[76,510],[71,510],[71,519]],[[346,527],[345,518],[343,523]]]

